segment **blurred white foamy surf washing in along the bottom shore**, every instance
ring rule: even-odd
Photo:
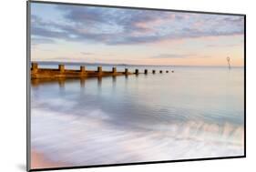
[[[243,128],[188,121],[148,127],[113,126],[101,109],[73,116],[32,108],[32,147],[46,157],[86,166],[243,154]],[[123,121],[125,124],[126,121]]]

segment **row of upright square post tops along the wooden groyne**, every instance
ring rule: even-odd
[[[36,63],[32,63],[32,71],[37,72],[38,70],[38,65]],[[58,65],[58,70],[61,73],[65,72],[65,66],[64,65]],[[81,73],[86,73],[86,66],[80,66],[80,72]],[[174,72],[173,70],[171,71],[172,73]],[[97,73],[101,74],[102,73],[102,66],[97,66]],[[112,68],[112,73],[117,73],[117,67]],[[153,74],[156,74],[156,70],[152,70]],[[160,74],[163,73],[162,70],[159,71]],[[166,71],[166,73],[169,73],[169,70]],[[125,68],[125,74],[128,75],[128,68]],[[135,74],[138,75],[138,69],[135,69]],[[148,74],[148,69],[144,70],[144,74]]]

